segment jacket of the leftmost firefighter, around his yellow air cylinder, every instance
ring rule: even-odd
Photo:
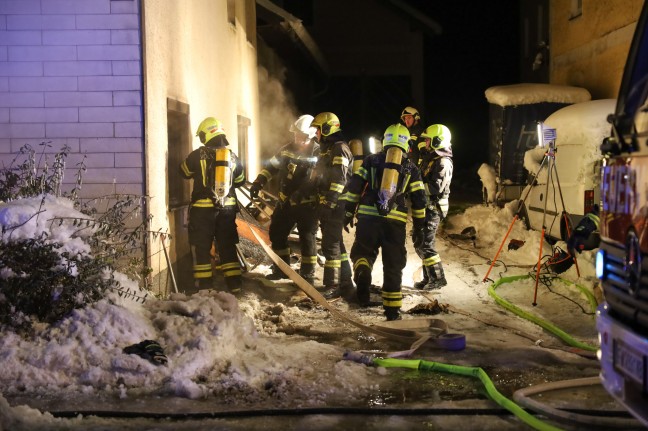
[[[212,141],[216,138],[212,139]],[[213,144],[212,141],[189,153],[184,162],[180,164],[182,176],[194,180],[193,191],[191,192],[192,207],[221,208],[214,194],[214,170],[216,168],[216,149],[224,145]],[[235,188],[245,184],[245,173],[241,161],[233,151],[230,151],[230,169],[232,169],[232,184],[224,208],[236,209]]]

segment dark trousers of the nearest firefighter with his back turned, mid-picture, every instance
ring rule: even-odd
[[[401,281],[407,264],[405,249],[405,223],[377,216],[361,216],[356,224],[356,237],[351,247],[353,275],[358,285],[371,285],[371,271],[382,249],[383,307],[399,308],[403,305]]]

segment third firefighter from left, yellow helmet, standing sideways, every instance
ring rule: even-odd
[[[317,215],[322,230],[324,263],[324,297],[327,299],[354,294],[351,264],[344,247],[344,201],[340,196],[351,176],[353,155],[347,144],[340,120],[332,112],[321,112],[311,123],[315,127],[320,154],[311,179],[318,196]]]

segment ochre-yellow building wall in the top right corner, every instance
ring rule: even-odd
[[[551,0],[551,83],[584,87],[592,99],[616,98],[643,0]]]

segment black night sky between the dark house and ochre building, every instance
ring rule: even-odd
[[[459,167],[478,167],[487,161],[489,136],[484,91],[520,79],[518,2],[470,2],[469,7],[460,2],[416,3],[424,4],[444,29],[425,45],[426,118],[453,132]],[[445,59],[442,66],[431,60],[439,57]]]

